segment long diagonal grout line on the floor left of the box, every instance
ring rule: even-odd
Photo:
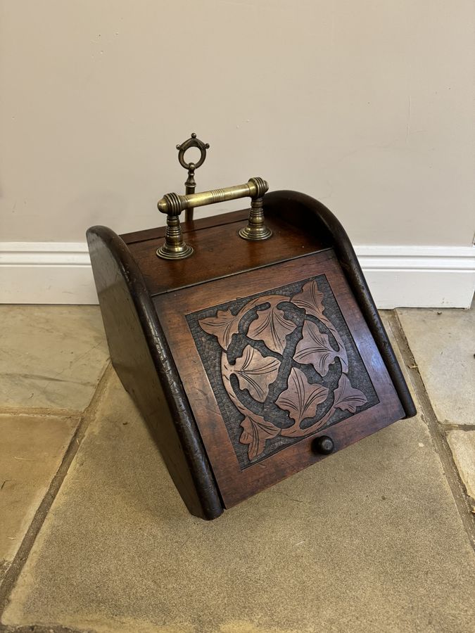
[[[25,534],[25,537],[23,538],[22,544],[20,545],[15,555],[15,558],[13,558],[13,561],[10,567],[8,568],[8,570],[6,571],[6,574],[4,575],[2,582],[0,582],[0,632],[23,630],[23,627],[18,629],[15,627],[11,628],[11,627],[8,627],[7,625],[3,625],[1,623],[1,616],[3,615],[4,610],[6,606],[8,605],[8,599],[10,597],[13,587],[15,586],[18,580],[18,577],[21,571],[23,570],[23,566],[25,565],[28,556],[30,556],[30,551],[32,549],[32,546],[34,545],[34,541],[36,540],[37,535],[39,534],[39,531],[42,528],[44,520],[46,519],[46,516],[48,515],[49,510],[51,509],[51,506],[53,505],[54,499],[56,499],[56,495],[58,494],[61,488],[61,485],[63,484],[63,480],[65,479],[65,476],[68,474],[70,465],[73,459],[75,459],[75,456],[78,450],[80,449],[80,445],[82,443],[84,435],[87,432],[87,428],[89,428],[89,423],[96,416],[96,412],[99,408],[99,404],[101,404],[103,394],[106,390],[106,386],[109,382],[109,379],[112,373],[113,373],[113,368],[112,368],[112,364],[109,361],[106,364],[105,368],[103,369],[103,372],[101,373],[101,376],[99,378],[99,383],[96,387],[96,390],[94,391],[94,395],[92,396],[91,402],[89,402],[89,405],[87,406],[87,408],[84,409],[82,413],[77,413],[76,411],[75,415],[70,415],[71,418],[74,418],[74,417],[79,418],[77,429],[75,430],[75,433],[72,435],[68,448],[66,449],[65,454],[63,456],[63,460],[61,461],[61,464],[58,467],[58,470],[53,476],[53,479],[51,480],[51,484],[49,485],[49,488],[46,491],[46,494],[44,494],[41,504],[39,504],[37,511],[34,513],[34,518],[32,519],[32,522],[30,523],[30,527],[28,528]],[[25,630],[30,630],[30,631],[37,630],[38,632],[40,632],[43,629],[42,627],[37,627],[37,629],[34,629],[34,628],[32,629],[31,627],[28,627]],[[55,630],[55,629],[54,627],[45,627],[44,630]],[[70,631],[72,629],[65,629],[63,627],[58,630]]]

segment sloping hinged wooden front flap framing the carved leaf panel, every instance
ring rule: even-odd
[[[227,507],[405,415],[331,249],[154,303]]]

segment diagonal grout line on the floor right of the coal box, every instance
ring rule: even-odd
[[[457,510],[460,514],[462,525],[467,532],[471,546],[475,549],[475,522],[470,497],[468,496],[464,483],[460,478],[460,473],[455,464],[447,438],[445,437],[444,429],[439,423],[435,411],[433,410],[431,400],[429,399],[424,381],[422,380],[422,376],[419,372],[419,367],[417,366],[414,354],[412,354],[403,326],[395,310],[391,310],[388,320],[391,324],[396,343],[398,344],[403,360],[406,364],[407,372],[409,373],[412,381],[412,386],[414,387],[417,399],[419,399],[421,407],[420,413],[422,414],[422,418],[426,423],[427,428],[429,428],[431,440],[433,441],[436,452],[441,459],[445,479],[447,480],[448,486],[452,492],[452,497],[454,498],[455,506],[457,506]]]

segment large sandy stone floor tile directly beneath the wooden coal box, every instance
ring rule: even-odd
[[[94,632],[473,630],[474,552],[419,417],[212,522],[113,376],[2,621]]]

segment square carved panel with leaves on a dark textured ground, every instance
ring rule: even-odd
[[[324,274],[186,321],[241,470],[379,402]]]

